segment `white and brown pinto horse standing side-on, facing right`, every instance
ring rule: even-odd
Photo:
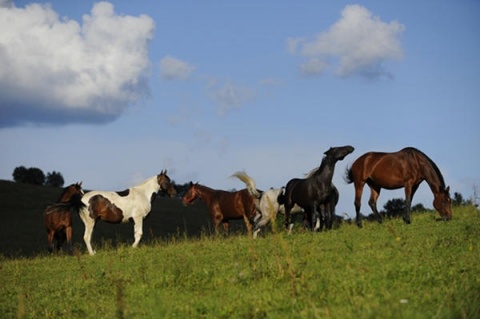
[[[122,192],[90,191],[86,193],[82,198],[85,207],[80,210],[80,218],[85,224],[83,240],[89,254],[95,254],[91,240],[97,220],[113,224],[133,221],[132,247],[137,247],[143,235],[143,219],[150,213],[153,200],[159,191],[170,196],[177,194],[166,170]]]

